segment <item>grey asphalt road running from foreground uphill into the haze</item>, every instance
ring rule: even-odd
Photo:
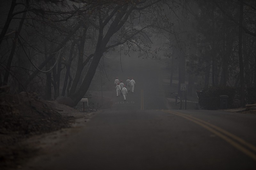
[[[123,101],[113,85],[110,109],[80,120],[21,169],[256,169],[255,114],[168,109],[161,64],[126,63],[116,76],[133,77],[134,93]]]

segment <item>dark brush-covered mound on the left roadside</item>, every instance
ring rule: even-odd
[[[49,108],[35,93],[2,93],[0,103],[0,134],[29,136],[68,127],[68,119]]]

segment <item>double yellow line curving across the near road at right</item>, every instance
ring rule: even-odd
[[[256,152],[256,147],[254,145],[246,142],[244,139],[237,137],[234,134],[232,134],[224,129],[221,129],[209,122],[205,122],[205,121],[198,119],[196,117],[193,117],[191,115],[186,115],[183,113],[170,111],[170,110],[162,110],[162,111],[183,117],[187,120],[190,120],[190,121],[198,124],[199,126],[203,127],[204,129],[207,129],[210,132],[217,135],[218,137],[224,139],[226,142],[228,142],[229,144],[234,146],[239,151],[243,152],[244,154],[248,155],[252,159],[256,160],[256,154],[254,153],[254,152]]]

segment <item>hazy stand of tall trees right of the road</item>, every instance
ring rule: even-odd
[[[178,88],[186,78],[192,93],[196,79],[197,88],[240,88],[241,106],[255,101],[256,1],[180,1],[175,10],[170,9],[165,6],[171,27],[164,25],[162,30],[169,40],[171,67],[175,68],[175,62],[178,65]]]

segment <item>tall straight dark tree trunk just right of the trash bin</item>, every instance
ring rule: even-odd
[[[244,66],[243,66],[243,54],[242,54],[242,26],[243,26],[243,3],[240,1],[240,17],[239,17],[239,39],[238,39],[238,55],[239,55],[239,67],[240,67],[240,92],[241,92],[241,107],[245,105],[244,99]]]

